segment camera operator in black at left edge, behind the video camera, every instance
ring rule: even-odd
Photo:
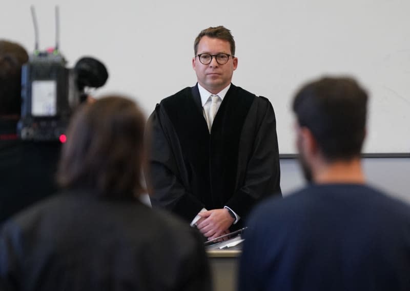
[[[21,141],[21,71],[28,62],[19,44],[0,40],[0,224],[56,191],[59,142]]]

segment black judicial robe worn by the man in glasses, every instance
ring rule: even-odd
[[[255,203],[280,195],[276,119],[268,99],[232,84],[210,133],[198,87],[187,87],[163,99],[148,124],[154,207],[191,221],[203,207],[228,206],[243,222]]]

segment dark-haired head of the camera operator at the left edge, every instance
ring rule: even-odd
[[[0,40],[0,115],[20,114],[22,65],[28,58],[19,44]]]

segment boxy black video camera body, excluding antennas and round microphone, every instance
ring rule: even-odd
[[[64,139],[70,115],[80,100],[76,74],[57,50],[36,52],[22,68],[22,140]]]

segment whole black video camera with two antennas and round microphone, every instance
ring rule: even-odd
[[[108,79],[103,63],[82,57],[74,68],[58,50],[58,7],[56,7],[56,45],[38,50],[38,29],[34,7],[31,13],[35,31],[35,50],[22,68],[22,111],[17,134],[22,140],[66,141],[66,128],[75,107],[86,100],[86,87],[98,88]]]

